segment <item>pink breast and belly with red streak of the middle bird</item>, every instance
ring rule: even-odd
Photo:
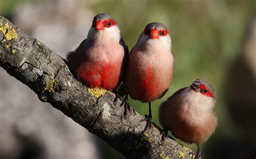
[[[129,95],[142,102],[160,98],[169,89],[173,74],[170,50],[134,47],[125,73],[125,88]]]

